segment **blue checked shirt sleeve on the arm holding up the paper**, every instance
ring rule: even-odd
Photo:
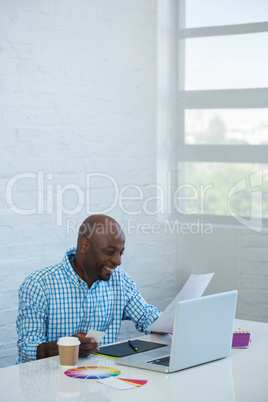
[[[123,320],[132,320],[138,331],[149,334],[150,331],[146,331],[146,328],[161,315],[161,311],[144,300],[135,282],[127,274],[125,275],[125,292],[126,306]]]

